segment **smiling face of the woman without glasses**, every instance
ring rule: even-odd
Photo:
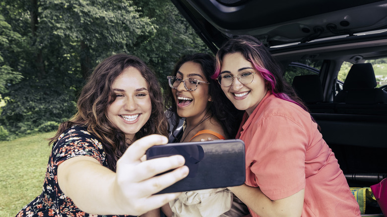
[[[117,98],[108,106],[108,118],[132,140],[152,111],[148,83],[136,68],[128,67],[114,80],[112,89]]]

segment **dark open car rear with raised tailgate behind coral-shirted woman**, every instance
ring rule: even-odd
[[[387,0],[172,2],[214,54],[238,35],[269,49],[350,187],[387,177]],[[363,205],[383,216],[375,201]]]

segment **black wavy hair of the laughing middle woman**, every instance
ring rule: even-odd
[[[234,105],[227,99],[223,93],[217,81],[211,79],[211,75],[214,73],[215,59],[214,56],[209,54],[186,54],[183,55],[176,63],[173,76],[176,76],[180,67],[186,62],[195,62],[200,64],[201,70],[207,81],[209,82],[209,95],[212,99],[208,102],[207,108],[211,111],[211,115],[215,116],[219,123],[222,125],[224,132],[228,138],[235,138],[239,124],[242,120],[242,111],[236,109]],[[181,117],[177,114],[176,102],[173,98],[172,88],[168,87],[165,96],[165,105],[167,108],[167,116],[170,123],[173,125],[172,132],[176,130]]]

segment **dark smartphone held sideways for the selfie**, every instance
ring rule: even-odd
[[[240,139],[170,143],[146,151],[147,160],[172,155],[182,155],[190,173],[157,194],[231,187],[245,182],[245,143]]]

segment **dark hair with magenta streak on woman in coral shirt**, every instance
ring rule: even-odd
[[[254,65],[265,79],[267,88],[275,97],[295,103],[309,112],[294,89],[283,79],[280,64],[273,58],[268,49],[252,36],[238,36],[230,39],[219,49],[216,54],[213,79],[217,78],[220,73],[224,55],[233,53],[241,53]]]

